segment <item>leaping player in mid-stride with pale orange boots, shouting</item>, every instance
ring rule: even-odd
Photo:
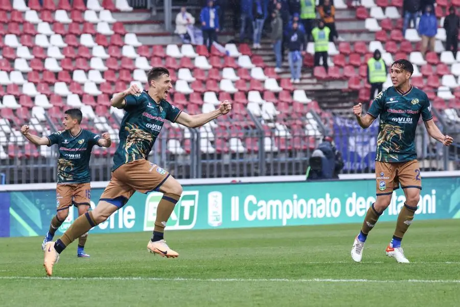
[[[147,249],[162,257],[179,256],[166,244],[164,231],[166,222],[180,199],[182,186],[168,171],[148,161],[149,152],[166,120],[195,128],[227,114],[231,111],[232,104],[225,100],[215,111],[189,115],[166,101],[172,88],[166,68],[151,69],[148,82],[148,91],[141,91],[137,85],[131,85],[126,91],[113,96],[111,105],[124,109],[125,115],[120,127],[120,145],[113,157],[110,182],[93,211],[79,216],[55,243],[47,243],[43,266],[49,276],[59,260],[59,254],[80,235],[122,208],[134,191],[163,193]]]

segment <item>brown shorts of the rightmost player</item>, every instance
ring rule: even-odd
[[[408,162],[375,162],[375,177],[377,181],[377,195],[392,194],[399,188],[422,189],[419,161]]]

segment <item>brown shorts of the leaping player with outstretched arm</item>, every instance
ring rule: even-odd
[[[99,200],[122,207],[134,191],[145,194],[157,191],[169,175],[165,169],[147,160],[123,164],[112,172],[112,178]]]

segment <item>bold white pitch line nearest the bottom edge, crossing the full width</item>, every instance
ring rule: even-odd
[[[28,279],[28,280],[128,280],[128,281],[204,281],[204,282],[420,282],[420,283],[460,283],[460,280],[440,279],[404,279],[404,280],[378,280],[378,279],[288,279],[288,278],[156,278],[156,277],[32,277],[32,276],[0,276],[0,279]]]

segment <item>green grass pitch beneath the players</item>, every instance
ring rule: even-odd
[[[360,225],[170,231],[177,259],[147,252],[150,233],[90,235],[89,259],[65,250],[44,277],[41,237],[0,239],[0,306],[459,306],[460,221],[416,221],[411,264],[385,255],[378,223],[363,262]]]

